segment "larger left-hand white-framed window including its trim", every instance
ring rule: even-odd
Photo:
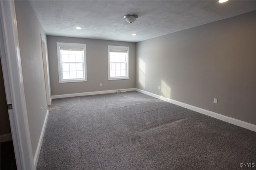
[[[59,82],[86,82],[86,44],[57,43]]]

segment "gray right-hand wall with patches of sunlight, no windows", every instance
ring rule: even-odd
[[[255,21],[256,11],[137,43],[136,88],[256,125]]]

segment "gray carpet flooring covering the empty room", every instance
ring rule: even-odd
[[[54,99],[49,109],[38,170],[256,166],[256,132],[139,92]]]

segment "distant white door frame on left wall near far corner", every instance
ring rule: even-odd
[[[49,64],[48,64],[48,56],[46,52],[46,41],[41,34],[41,45],[42,45],[42,56],[43,56],[43,65],[44,65],[44,82],[45,82],[45,90],[46,90],[46,100],[47,105],[51,105],[51,86],[50,86],[50,74],[49,74]]]

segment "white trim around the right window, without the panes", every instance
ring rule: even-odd
[[[110,48],[123,48],[123,49],[127,49],[127,77],[115,77],[115,78],[110,78]],[[108,45],[108,80],[125,80],[125,79],[129,79],[129,56],[130,56],[130,52],[129,52],[129,47],[125,47],[125,46],[116,46],[116,45]]]

